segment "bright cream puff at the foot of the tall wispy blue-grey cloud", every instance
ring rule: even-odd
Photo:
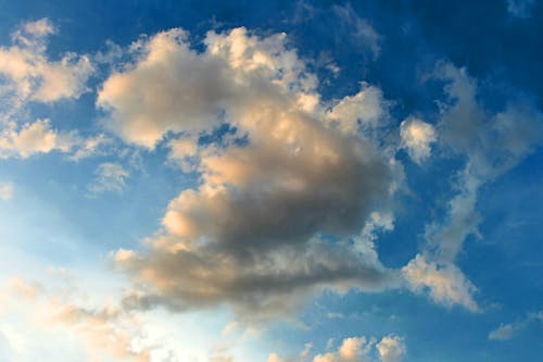
[[[424,255],[417,254],[402,272],[414,291],[428,290],[437,303],[447,307],[459,304],[472,312],[479,311],[472,298],[477,288],[456,265],[428,262]]]

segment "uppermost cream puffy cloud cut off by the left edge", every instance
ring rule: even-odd
[[[0,47],[0,102],[7,118],[28,101],[51,103],[79,97],[92,73],[86,55],[66,53],[58,61],[47,57],[47,38],[55,32],[41,18],[23,23],[12,34],[12,46]]]

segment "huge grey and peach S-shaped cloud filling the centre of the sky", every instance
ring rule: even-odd
[[[147,250],[115,254],[144,286],[126,304],[182,310],[226,301],[273,315],[323,288],[394,285],[395,273],[353,239],[393,192],[393,162],[354,127],[330,123],[315,76],[283,34],[237,28],[209,33],[204,45],[195,51],[180,29],[141,40],[135,63],[99,93],[104,122],[127,141],[153,148],[182,133],[168,142],[171,158],[197,153],[201,177],[171,201]],[[377,123],[382,104],[380,90],[367,86],[331,109],[337,124]],[[247,142],[191,141],[220,123]]]

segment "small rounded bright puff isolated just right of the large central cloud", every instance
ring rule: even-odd
[[[435,142],[434,127],[416,117],[408,117],[400,125],[402,146],[407,149],[409,157],[418,164],[430,157],[430,145]]]

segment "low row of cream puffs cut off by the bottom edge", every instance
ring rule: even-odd
[[[399,336],[389,335],[379,342],[374,337],[366,338],[362,336],[343,339],[337,350],[332,352],[318,353],[311,358],[310,350],[304,349],[299,359],[282,358],[277,353],[272,353],[268,357],[268,362],[400,362],[405,354],[404,339]]]

